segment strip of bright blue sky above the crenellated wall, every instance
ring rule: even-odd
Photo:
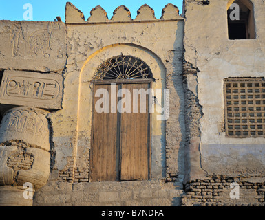
[[[69,1],[69,0],[68,0]],[[107,12],[109,19],[112,18],[113,11],[120,5],[125,5],[131,12],[132,19],[135,19],[137,10],[141,5],[147,4],[155,11],[157,19],[161,17],[162,8],[167,3],[178,6],[182,13],[183,0],[72,0],[76,8],[85,15],[85,20],[90,16],[90,11],[96,5],[100,5]],[[25,10],[23,5],[32,5],[33,21],[54,21],[56,16],[60,16],[65,21],[65,0],[0,0],[0,20],[22,21]]]

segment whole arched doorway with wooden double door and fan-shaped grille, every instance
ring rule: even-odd
[[[147,180],[153,75],[134,56],[114,56],[94,75],[90,181]]]

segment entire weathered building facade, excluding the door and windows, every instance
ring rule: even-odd
[[[142,5],[134,20],[124,5],[111,18],[97,6],[87,21],[67,3],[65,23],[0,21],[0,205],[264,205],[264,137],[226,136],[224,78],[264,77],[265,3],[253,2],[255,39],[229,40],[231,3],[186,0],[183,17],[169,3],[159,19]],[[91,182],[92,80],[122,54],[169,89],[154,102],[169,102],[169,118],[151,114],[148,181]]]

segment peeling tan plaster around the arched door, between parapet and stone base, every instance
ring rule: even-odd
[[[151,67],[156,78],[156,82],[152,83],[153,89],[170,89],[169,121],[157,120],[158,113],[152,115],[152,177],[166,177],[167,168],[173,176],[183,175],[179,152],[183,147],[183,127],[179,120],[183,117],[180,77],[183,21],[81,23],[67,25],[66,31],[68,59],[64,82],[67,89],[63,110],[50,116],[54,146],[58,149],[56,152],[61,152],[56,153],[54,168],[62,170],[69,166],[67,161],[70,164],[75,161],[77,173],[88,175],[93,100],[91,81],[101,63],[112,56],[123,54],[139,57]],[[176,124],[167,126],[170,123]],[[166,126],[170,129],[167,129],[168,140]],[[180,138],[175,139],[176,135],[180,135]],[[72,144],[67,144],[69,142]],[[169,157],[166,148],[169,148]],[[81,176],[76,181],[87,181],[87,177]]]

